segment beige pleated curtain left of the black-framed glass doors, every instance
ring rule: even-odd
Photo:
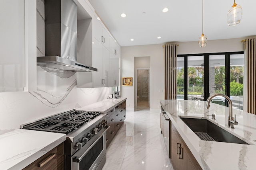
[[[164,99],[177,98],[177,44],[164,45]]]

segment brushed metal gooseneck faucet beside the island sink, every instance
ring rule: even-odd
[[[228,96],[226,96],[225,94],[214,94],[214,95],[210,96],[206,100],[206,107],[205,108],[209,109],[210,102],[211,102],[212,98],[214,98],[216,96],[222,96],[222,97],[224,97],[228,101],[228,107],[229,107],[228,127],[231,126],[231,128],[234,129],[234,125],[238,125],[238,122],[236,121],[236,115],[235,115],[235,119],[233,117],[232,101],[230,100],[230,98]]]

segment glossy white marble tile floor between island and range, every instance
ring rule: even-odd
[[[160,129],[160,111],[126,111],[102,170],[173,170]]]

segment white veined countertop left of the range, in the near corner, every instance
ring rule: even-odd
[[[0,170],[23,169],[66,140],[66,134],[16,129],[0,135]]]

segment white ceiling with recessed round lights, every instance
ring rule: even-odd
[[[121,46],[198,41],[202,34],[202,0],[89,2]],[[233,0],[204,0],[204,34],[208,40],[256,35],[256,0],[236,0],[243,9],[242,21],[229,27],[226,18],[233,3]],[[163,13],[165,7],[169,11]],[[127,17],[121,18],[122,13]],[[157,39],[158,36],[162,38]]]

